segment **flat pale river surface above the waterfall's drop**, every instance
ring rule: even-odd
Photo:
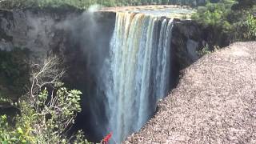
[[[108,7],[98,10],[102,12],[114,12],[114,13],[130,13],[130,14],[146,14],[154,17],[166,17],[166,18],[182,18],[186,16],[190,19],[190,16],[194,14],[196,10],[190,6],[177,6],[177,5],[149,5],[149,6],[120,6],[120,7]]]

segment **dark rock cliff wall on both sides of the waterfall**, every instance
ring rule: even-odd
[[[102,137],[106,122],[103,102],[95,98],[98,71],[109,54],[110,39],[115,25],[113,12],[82,13],[75,10],[0,10],[0,50],[15,47],[30,50],[31,61],[42,61],[50,51],[64,60],[70,88],[82,90],[82,114],[77,126],[90,133],[92,140]],[[173,81],[178,82],[179,70],[198,59],[202,34],[194,22],[174,20],[171,41]],[[1,51],[0,51],[1,52]],[[173,86],[170,86],[173,87]],[[104,94],[102,94],[104,95]],[[104,96],[103,96],[104,97]],[[91,109],[98,106],[100,122],[95,122]],[[95,111],[95,110],[94,110]]]

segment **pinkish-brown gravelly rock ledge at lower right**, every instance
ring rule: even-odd
[[[158,106],[123,143],[256,143],[256,42],[199,59]]]

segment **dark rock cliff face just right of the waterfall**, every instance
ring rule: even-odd
[[[171,47],[174,60],[178,61],[182,69],[198,59],[198,50],[202,49],[203,42],[202,30],[195,22],[174,20]]]

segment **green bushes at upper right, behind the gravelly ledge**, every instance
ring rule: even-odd
[[[211,47],[227,46],[230,42],[255,40],[256,1],[221,0],[198,6],[198,13],[192,18],[207,32],[207,42]]]

